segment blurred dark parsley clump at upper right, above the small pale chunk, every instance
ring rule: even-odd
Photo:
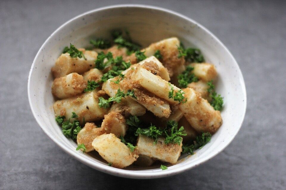
[[[178,58],[184,57],[186,61],[190,63],[202,63],[205,61],[203,58],[203,54],[197,48],[187,48],[185,49],[184,46],[181,44],[178,47],[179,55]]]

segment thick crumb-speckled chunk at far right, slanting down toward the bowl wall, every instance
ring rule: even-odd
[[[189,124],[197,132],[216,132],[223,122],[220,111],[214,110],[209,102],[192,88],[184,88],[183,91],[187,101],[179,104],[179,108]]]

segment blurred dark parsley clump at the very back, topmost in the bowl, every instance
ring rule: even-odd
[[[130,36],[129,36],[129,32],[125,31],[125,34],[127,35],[127,38],[124,38],[122,35],[122,31],[120,30],[114,30],[112,31],[111,35],[114,38],[114,43],[116,43],[118,45],[118,47],[126,47],[128,49],[128,55],[130,55],[131,53],[140,50],[140,45],[134,43]]]

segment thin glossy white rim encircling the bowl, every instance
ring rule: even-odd
[[[167,12],[171,15],[183,18],[185,20],[188,20],[190,23],[194,23],[196,25],[198,25],[201,29],[203,29],[204,31],[206,31],[206,33],[208,33],[210,36],[213,37],[213,39],[215,39],[219,45],[221,47],[223,47],[231,56],[231,58],[234,60],[234,64],[236,64],[237,68],[238,68],[238,74],[239,74],[239,78],[240,78],[240,83],[241,83],[241,87],[242,87],[242,93],[244,95],[244,113],[242,115],[242,122],[240,124],[240,126],[238,127],[237,131],[235,132],[235,134],[233,135],[233,137],[229,140],[229,142],[219,151],[205,156],[203,157],[200,162],[198,164],[192,165],[186,165],[185,167],[177,167],[174,168],[172,170],[164,170],[161,172],[138,172],[140,170],[124,170],[124,169],[118,169],[118,168],[114,168],[114,167],[109,167],[107,165],[103,165],[103,164],[99,164],[96,162],[91,162],[88,159],[84,158],[83,156],[80,156],[80,154],[78,154],[76,151],[72,151],[68,148],[66,148],[66,146],[61,143],[57,138],[53,137],[51,133],[49,133],[46,129],[44,129],[42,127],[42,122],[39,120],[37,114],[35,113],[34,108],[32,107],[32,98],[31,98],[31,93],[30,93],[30,79],[31,79],[31,74],[32,74],[32,70],[34,68],[35,62],[38,59],[38,56],[41,52],[41,50],[43,49],[43,47],[47,44],[47,42],[58,32],[60,31],[63,27],[65,27],[67,24],[71,23],[72,21],[79,19],[85,15],[88,15],[90,13],[93,12],[97,12],[97,11],[101,11],[101,10],[105,10],[105,9],[114,9],[114,8],[126,8],[126,7],[130,7],[130,8],[142,8],[142,9],[152,9],[152,10],[156,10],[156,11],[163,11],[163,12]],[[244,83],[244,79],[243,79],[243,75],[242,72],[240,70],[239,65],[237,64],[237,61],[235,60],[235,58],[233,57],[233,55],[231,54],[231,52],[229,51],[229,49],[214,35],[212,34],[212,32],[210,32],[208,29],[206,29],[204,26],[202,26],[200,23],[196,22],[195,20],[188,18],[185,15],[182,15],[178,12],[172,11],[170,9],[165,9],[162,7],[157,7],[157,6],[152,6],[152,5],[145,5],[145,4],[116,4],[116,5],[110,5],[110,6],[105,6],[105,7],[100,7],[97,9],[92,9],[90,11],[84,12],[80,15],[75,16],[74,18],[71,18],[70,20],[66,21],[65,23],[63,23],[61,26],[59,26],[43,43],[43,45],[41,45],[40,49],[38,50],[38,53],[36,54],[32,66],[30,68],[29,71],[29,77],[28,77],[28,99],[29,99],[29,105],[31,107],[32,113],[34,115],[35,120],[37,121],[38,125],[41,127],[41,129],[48,135],[48,137],[50,139],[52,139],[61,149],[63,149],[66,153],[68,153],[70,156],[74,157],[75,159],[79,160],[80,162],[82,162],[83,164],[88,165],[89,167],[92,167],[96,170],[99,170],[101,172],[105,172],[111,175],[115,175],[115,176],[120,176],[120,177],[127,177],[127,178],[137,178],[137,179],[144,179],[144,178],[161,178],[161,177],[166,177],[166,176],[170,176],[170,175],[175,175],[181,172],[185,172],[187,170],[190,170],[191,168],[197,167],[200,164],[203,164],[204,162],[207,162],[208,160],[212,159],[214,156],[216,156],[218,153],[222,152],[234,139],[234,137],[237,135],[237,133],[239,132],[243,121],[244,121],[244,117],[245,117],[245,113],[246,113],[246,105],[247,105],[247,97],[246,97],[246,88],[245,88],[245,83]]]

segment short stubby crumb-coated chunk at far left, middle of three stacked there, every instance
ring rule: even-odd
[[[81,94],[86,88],[83,76],[71,73],[64,77],[56,78],[52,84],[52,94],[57,98],[69,98]]]

